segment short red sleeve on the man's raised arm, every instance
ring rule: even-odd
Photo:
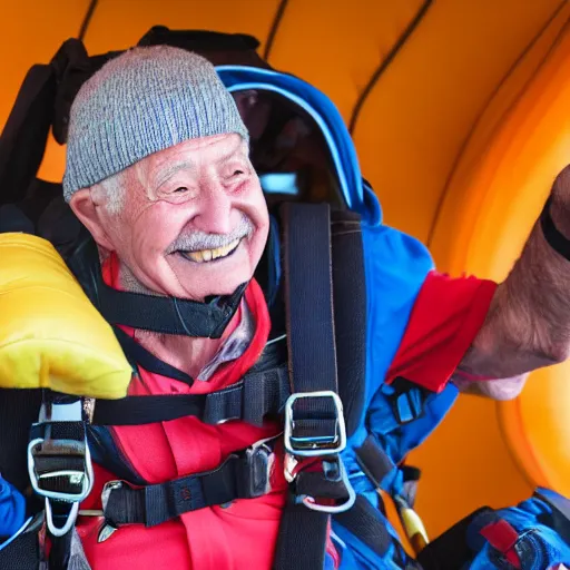
[[[386,375],[441,392],[485,318],[497,283],[431,272]]]

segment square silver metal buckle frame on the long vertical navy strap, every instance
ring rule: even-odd
[[[293,404],[297,400],[309,397],[330,397],[333,401],[336,412],[336,425],[334,434],[316,438],[293,436],[293,430],[295,429]],[[346,425],[344,423],[343,403],[338,397],[338,394],[331,390],[323,390],[321,392],[297,392],[292,394],[285,402],[284,430],[283,439],[285,450],[291,455],[308,458],[341,453],[341,451],[346,448]]]

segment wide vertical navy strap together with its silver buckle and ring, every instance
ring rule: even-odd
[[[338,455],[346,445],[346,426],[337,395],[330,206],[287,204],[284,222],[292,384],[284,444],[291,492],[274,568],[314,570],[324,566],[331,514],[355,501]],[[316,463],[321,465],[314,470]]]

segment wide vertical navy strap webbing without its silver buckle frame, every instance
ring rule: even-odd
[[[330,206],[287,204],[284,248],[292,393],[337,393]],[[302,397],[295,404],[289,448],[293,442],[312,448],[318,439],[326,441],[338,420],[344,421],[330,397]],[[274,568],[321,569],[331,515],[295,499],[293,494],[283,512]]]

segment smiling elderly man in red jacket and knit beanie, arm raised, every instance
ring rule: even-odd
[[[440,275],[430,271],[426,253],[412,238],[363,229],[373,234],[365,264],[376,288],[389,278],[399,287],[405,271],[391,267],[386,252],[411,252],[405,263],[423,272],[419,293],[401,288],[413,308],[395,355],[383,356],[387,367],[379,382],[405,377],[434,392],[453,382],[463,392],[504,400],[520,393],[530,371],[567,357],[568,178],[568,171],[558,178],[542,225],[537,224],[500,285]],[[137,302],[149,306],[160,297],[194,302],[195,322],[186,333],[174,325],[176,334],[165,332],[164,320],[155,328],[137,326],[136,315],[135,324],[121,324],[121,335],[137,347],[129,394],[214,393],[258,363],[272,322],[254,273],[266,247],[269,216],[249,161],[247,129],[210,63],[155,47],[130,50],[104,66],[71,109],[63,189],[98,246],[102,279],[120,292],[117,298],[135,293]],[[214,323],[205,317],[212,297],[229,307]],[[371,322],[379,314],[368,307]],[[381,331],[371,338],[384,342]],[[271,568],[287,502],[278,445],[271,492],[262,497],[188,509],[147,527],[117,529],[89,512],[101,508],[108,481],[148,485],[209,472],[238,450],[273,442],[281,431],[274,422],[212,425],[193,416],[107,430],[110,452],[105,461],[96,458],[95,489],[77,523],[91,567]],[[342,550],[342,541],[328,535],[331,568],[341,563]]]

